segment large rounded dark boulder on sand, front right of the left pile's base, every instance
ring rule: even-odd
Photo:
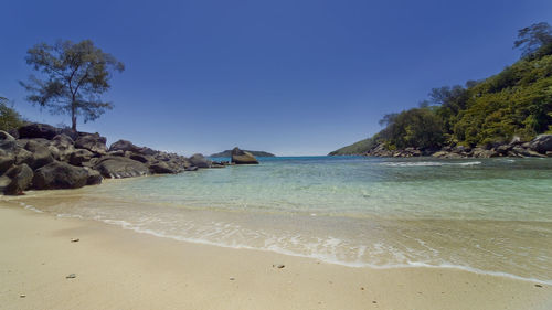
[[[34,172],[36,190],[78,189],[86,185],[88,171],[65,162],[54,161]]]

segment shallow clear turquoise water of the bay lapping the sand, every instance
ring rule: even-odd
[[[552,159],[267,158],[15,200],[189,242],[552,284]]]

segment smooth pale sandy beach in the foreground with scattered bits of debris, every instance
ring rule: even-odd
[[[0,309],[552,307],[552,288],[530,281],[443,268],[351,268],[177,242],[6,202],[0,253]]]

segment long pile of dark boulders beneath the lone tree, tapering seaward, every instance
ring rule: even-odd
[[[10,135],[11,133],[11,135]],[[119,140],[109,148],[98,133],[74,132],[45,124],[0,131],[0,191],[76,189],[103,178],[179,173],[223,165],[202,154],[185,158]]]

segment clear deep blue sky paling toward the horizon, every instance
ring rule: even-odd
[[[211,153],[234,146],[325,154],[380,130],[433,87],[498,73],[517,30],[552,23],[550,0],[0,2],[0,95],[24,100],[33,44],[93,40],[126,64],[115,104],[84,131]]]

